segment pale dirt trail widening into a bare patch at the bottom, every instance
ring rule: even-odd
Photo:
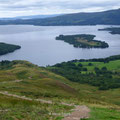
[[[0,91],[0,94],[10,96],[10,97],[15,97],[23,100],[29,100],[29,101],[37,101],[41,103],[46,103],[46,104],[53,104],[52,101],[50,100],[44,100],[44,99],[32,99],[26,96],[19,96],[15,94],[8,93],[7,91]],[[81,118],[89,118],[89,112],[90,109],[87,106],[76,106],[74,104],[67,104],[67,103],[59,103],[61,105],[66,105],[66,106],[75,106],[75,109],[73,109],[72,113],[69,115],[65,115],[63,120],[80,120]]]

